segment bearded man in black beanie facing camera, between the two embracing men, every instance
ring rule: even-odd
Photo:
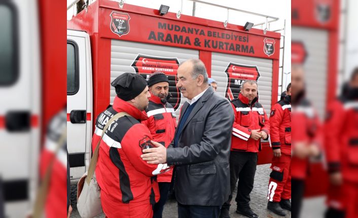
[[[174,108],[167,102],[169,94],[169,80],[163,72],[155,72],[148,81],[151,98],[146,109],[149,119],[142,121],[149,128],[153,140],[169,146],[174,138],[176,127]],[[160,199],[153,207],[153,218],[161,218],[164,204],[168,197],[172,170],[158,176]]]

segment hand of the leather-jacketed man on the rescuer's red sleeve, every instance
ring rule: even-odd
[[[149,164],[166,163],[166,148],[158,142],[152,141],[152,144],[155,148],[144,149],[145,154],[140,157]]]

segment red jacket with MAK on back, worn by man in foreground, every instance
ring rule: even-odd
[[[106,205],[129,202],[154,204],[159,200],[156,175],[168,167],[167,164],[148,164],[140,158],[143,149],[153,146],[149,129],[140,123],[148,117],[118,97],[114,100],[113,109],[131,116],[115,120],[100,142],[97,167],[102,177],[101,194],[105,194],[102,206],[109,211],[111,208]],[[102,125],[105,123],[102,122]],[[112,215],[106,214],[108,217]]]

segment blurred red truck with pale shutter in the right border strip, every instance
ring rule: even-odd
[[[292,1],[291,8],[291,49],[305,68],[307,98],[324,121],[327,102],[337,93],[340,1]],[[310,163],[306,183],[306,196],[326,192],[328,178],[321,161]]]

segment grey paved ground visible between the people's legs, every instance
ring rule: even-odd
[[[267,206],[267,186],[268,186],[268,180],[270,175],[270,164],[265,165],[259,165],[257,167],[256,176],[255,176],[255,183],[254,183],[254,190],[251,193],[251,208],[259,214],[260,217],[268,217],[268,218],[275,218],[275,217],[282,217],[277,216],[276,214],[268,211],[266,209]],[[73,196],[75,196],[76,190],[73,190],[71,193]],[[235,212],[236,209],[236,202],[235,202],[236,192],[234,193],[233,200],[231,202],[232,206],[230,208],[230,216],[232,218],[234,217],[245,217],[240,214],[237,214]],[[288,214],[285,217],[291,217],[291,212],[287,211]],[[71,214],[71,217],[80,217],[76,209],[74,209],[74,212]],[[98,217],[104,217],[104,215],[98,216]],[[177,204],[175,200],[169,200],[165,207],[163,212],[163,217],[165,218],[176,218],[177,217]],[[302,216],[307,217],[307,216]],[[314,216],[311,216],[314,217]],[[317,216],[316,216],[317,217]]]

